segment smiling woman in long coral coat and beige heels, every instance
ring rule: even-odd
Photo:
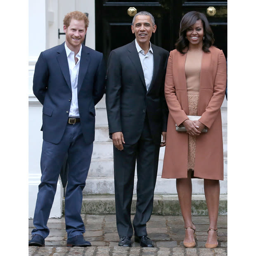
[[[162,178],[176,178],[185,225],[185,247],[194,247],[191,178],[204,179],[210,225],[207,248],[218,246],[217,219],[223,180],[223,141],[220,107],[225,96],[226,60],[213,47],[213,33],[204,14],[188,12],[180,22],[176,50],[170,52],[165,80],[169,108]],[[191,121],[190,116],[201,116]],[[183,125],[186,132],[178,132]],[[207,128],[207,132],[201,132]]]

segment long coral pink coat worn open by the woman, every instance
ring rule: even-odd
[[[209,50],[202,56],[197,110],[199,121],[208,127],[208,132],[197,137],[194,177],[223,180],[220,107],[225,96],[227,69],[223,51],[213,46]],[[169,116],[162,178],[187,178],[188,134],[175,130],[175,123],[179,126],[188,115],[186,56],[173,50],[167,64],[165,97]]]

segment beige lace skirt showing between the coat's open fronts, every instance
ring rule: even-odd
[[[199,92],[188,92],[188,112],[190,116],[197,116]],[[187,170],[194,170],[194,159],[196,154],[197,136],[188,135],[188,164]]]

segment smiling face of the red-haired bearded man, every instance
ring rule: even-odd
[[[66,33],[66,45],[75,53],[78,53],[81,43],[85,38],[87,28],[83,20],[71,19],[68,27],[64,25],[64,32]]]

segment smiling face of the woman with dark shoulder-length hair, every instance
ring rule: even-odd
[[[189,41],[189,47],[203,45],[204,26],[201,19],[197,20],[186,32],[187,40]]]

